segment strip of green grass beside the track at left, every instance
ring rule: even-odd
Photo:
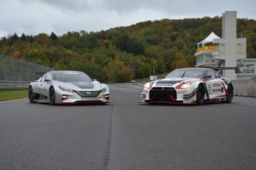
[[[10,101],[19,98],[27,98],[27,89],[1,89],[0,101]]]

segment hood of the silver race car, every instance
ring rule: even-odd
[[[91,83],[87,81],[80,82],[61,82],[56,81],[56,85],[68,87],[70,89],[82,90],[82,89],[91,89],[91,90],[99,90],[101,88],[101,84],[99,81],[92,81]]]

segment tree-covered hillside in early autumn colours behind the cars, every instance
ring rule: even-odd
[[[56,70],[86,72],[104,82],[194,67],[197,43],[211,32],[221,37],[222,17],[143,21],[99,32],[39,33],[0,38],[0,54]],[[237,18],[237,37],[247,39],[247,58],[256,58],[256,21]]]

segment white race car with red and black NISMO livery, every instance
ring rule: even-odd
[[[145,84],[142,103],[197,103],[233,99],[233,86],[228,78],[205,68],[175,69],[165,78]]]

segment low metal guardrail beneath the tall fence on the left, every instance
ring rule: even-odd
[[[28,88],[30,81],[0,81],[1,89],[25,89]]]

